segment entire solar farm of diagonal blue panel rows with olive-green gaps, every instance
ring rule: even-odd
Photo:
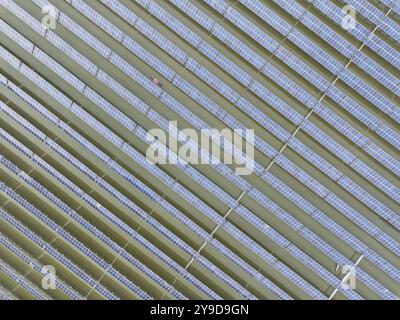
[[[0,299],[400,299],[400,1],[0,0],[0,45]],[[168,121],[254,172],[151,164]]]

